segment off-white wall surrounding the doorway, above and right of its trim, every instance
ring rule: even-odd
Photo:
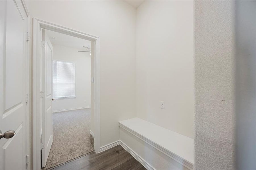
[[[119,0],[29,2],[31,19],[100,37],[100,146],[119,140],[118,121],[136,116],[136,9]]]

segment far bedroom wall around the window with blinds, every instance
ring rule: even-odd
[[[53,60],[76,64],[76,98],[55,99],[53,112],[91,107],[91,57],[90,52],[53,44]]]

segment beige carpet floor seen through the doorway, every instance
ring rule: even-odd
[[[49,169],[94,150],[90,135],[91,110],[53,113],[53,144],[43,168]]]

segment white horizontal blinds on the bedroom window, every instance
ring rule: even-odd
[[[53,98],[75,97],[75,63],[53,61]]]

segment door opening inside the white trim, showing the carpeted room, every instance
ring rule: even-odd
[[[49,169],[94,150],[91,41],[45,29],[42,40],[41,167]]]

